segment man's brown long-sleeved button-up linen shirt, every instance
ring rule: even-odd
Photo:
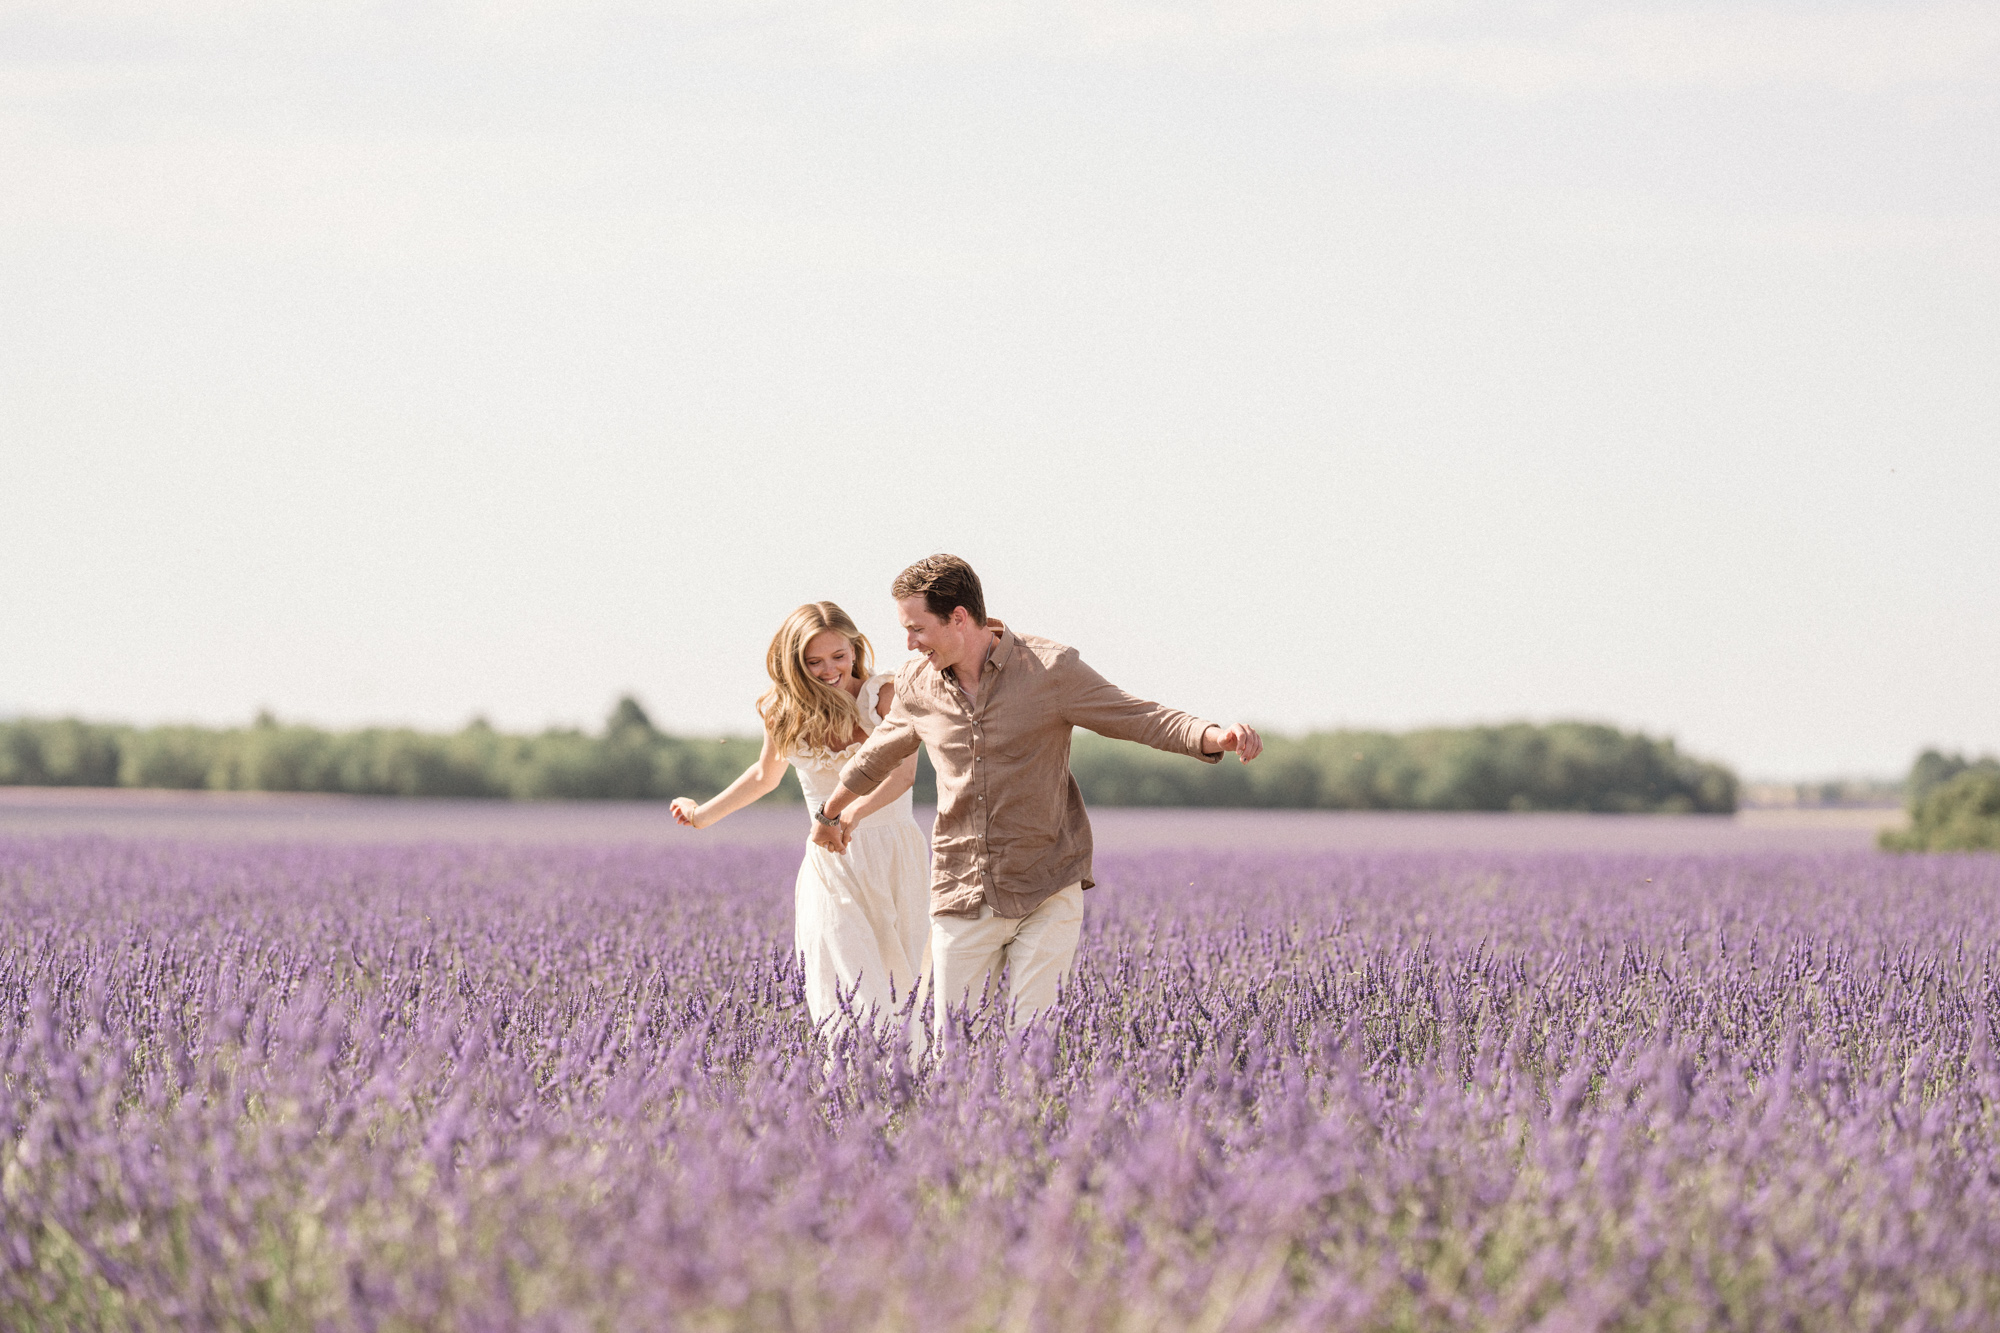
[[[1076,648],[1016,634],[998,620],[992,656],[968,709],[956,681],[922,656],[896,673],[896,703],[840,771],[866,797],[922,741],[938,771],[930,833],[930,913],[1026,917],[1042,899],[1090,879],[1090,819],[1070,777],[1070,729],[1156,751],[1202,755],[1210,723],[1134,699],[1084,666]]]

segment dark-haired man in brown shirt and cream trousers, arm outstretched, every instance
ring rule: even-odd
[[[1264,741],[1126,695],[1084,666],[1076,648],[1016,634],[986,616],[972,566],[952,554],[918,560],[890,588],[920,652],[896,673],[896,703],[814,811],[812,841],[844,853],[844,813],[898,763],[930,747],[938,823],[930,835],[930,967],[938,1031],[946,1007],[976,1001],[1010,965],[1010,1027],[1056,999],[1084,923],[1090,819],[1070,777],[1070,729],[1156,751],[1250,763]]]

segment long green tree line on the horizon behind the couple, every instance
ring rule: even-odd
[[[270,715],[226,729],[20,719],[0,723],[0,785],[662,801],[714,795],[756,753],[754,739],[662,733],[630,697],[596,735],[510,735],[484,721],[456,733],[322,731]],[[1738,789],[1726,767],[1672,741],[1594,723],[1270,737],[1254,765],[1076,733],[1070,769],[1092,805],[1154,807],[1720,815]],[[798,799],[792,777],[770,797]],[[936,801],[928,761],[916,799]]]

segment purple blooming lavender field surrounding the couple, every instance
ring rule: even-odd
[[[1106,859],[916,1067],[794,865],[0,841],[0,1327],[2000,1321],[2000,859]]]

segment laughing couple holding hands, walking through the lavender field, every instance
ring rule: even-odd
[[[890,596],[918,656],[894,679],[872,675],[838,606],[800,606],[766,656],[764,753],[714,801],[674,801],[674,819],[708,827],[776,789],[790,763],[812,807],[798,951],[814,1023],[836,1019],[840,995],[886,1017],[928,977],[942,1037],[948,1009],[980,1003],[1006,965],[1018,1027],[1056,1001],[1094,883],[1070,729],[1204,763],[1230,751],[1248,763],[1264,743],[1134,699],[1076,648],[988,618],[958,556],[918,560]],[[938,771],[928,871],[910,809],[918,743]]]

